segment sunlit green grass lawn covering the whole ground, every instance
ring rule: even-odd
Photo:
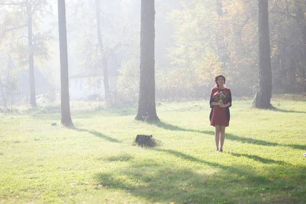
[[[158,104],[156,123],[135,121],[137,107],[72,105],[73,129],[50,125],[56,107],[0,114],[0,203],[305,203],[306,101],[272,105],[233,101],[223,153],[208,101]],[[160,145],[135,146],[137,134]]]

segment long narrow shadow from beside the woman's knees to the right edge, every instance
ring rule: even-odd
[[[258,140],[253,138],[246,138],[246,137],[238,137],[232,134],[226,134],[226,139],[232,141],[238,141],[242,143],[249,143],[249,144],[256,144],[256,145],[263,145],[263,146],[287,146],[294,149],[301,149],[306,150],[306,145],[299,145],[299,144],[278,144],[276,142],[268,142],[264,140]]]

